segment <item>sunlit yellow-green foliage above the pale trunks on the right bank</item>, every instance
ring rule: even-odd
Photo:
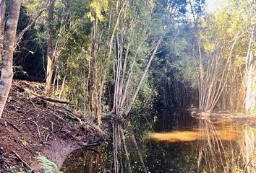
[[[244,82],[247,80],[247,52],[250,34],[255,32],[253,30],[255,9],[256,4],[252,1],[222,1],[215,13],[202,20],[200,28],[203,66],[204,68],[211,66],[211,57],[218,57],[218,66],[220,66],[216,71],[218,81],[221,81],[223,69],[229,69],[227,73],[229,76],[226,78],[227,89],[224,89],[223,97],[232,98],[229,103],[232,105],[230,109],[239,107],[239,111],[243,109],[241,100],[244,99],[244,91],[246,91]],[[230,61],[229,65],[226,64],[227,60]],[[222,105],[223,100],[220,102]],[[226,102],[230,101],[226,100]]]

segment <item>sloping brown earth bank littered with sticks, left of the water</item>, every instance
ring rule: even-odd
[[[35,95],[42,92],[42,84],[14,81],[0,119],[0,172],[41,172],[39,155],[60,168],[74,149],[108,140],[108,125]]]

